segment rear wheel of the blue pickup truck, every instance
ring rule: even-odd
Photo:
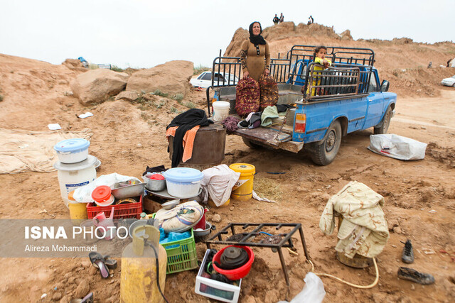
[[[341,124],[335,121],[328,128],[326,138],[321,144],[314,144],[311,153],[311,160],[317,165],[328,165],[336,157],[341,145]]]

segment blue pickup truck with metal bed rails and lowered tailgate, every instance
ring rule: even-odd
[[[305,148],[316,164],[328,165],[338,153],[342,136],[370,127],[375,134],[387,133],[397,94],[387,92],[389,82],[380,82],[378,70],[373,67],[373,50],[328,47],[326,57],[332,66],[315,71],[314,48],[294,45],[286,57],[272,59],[271,75],[279,86],[278,104],[292,104],[295,108],[288,109],[282,123],[271,128],[235,131],[245,144],[294,153]],[[217,57],[213,71],[240,78],[240,59]],[[212,83],[207,89],[209,114],[210,89],[215,90],[216,99],[230,102],[230,114],[235,115],[235,87]]]

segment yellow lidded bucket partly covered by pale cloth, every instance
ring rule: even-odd
[[[231,170],[240,172],[240,178],[232,187],[230,197],[236,200],[248,200],[253,195],[253,179],[255,177],[255,165],[247,163],[234,163],[229,165]]]

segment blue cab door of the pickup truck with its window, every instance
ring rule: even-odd
[[[378,125],[382,119],[382,114],[384,114],[384,98],[380,92],[377,70],[373,70],[371,73],[368,93],[367,118],[363,129]]]

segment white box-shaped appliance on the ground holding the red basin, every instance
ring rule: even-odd
[[[210,249],[205,251],[204,259],[201,264],[205,265],[209,253]],[[196,276],[196,286],[194,287],[196,294],[217,299],[218,301],[237,303],[239,300],[242,279],[240,279],[238,286],[212,280],[202,276],[204,268],[206,268],[206,266],[200,266],[198,275]]]

